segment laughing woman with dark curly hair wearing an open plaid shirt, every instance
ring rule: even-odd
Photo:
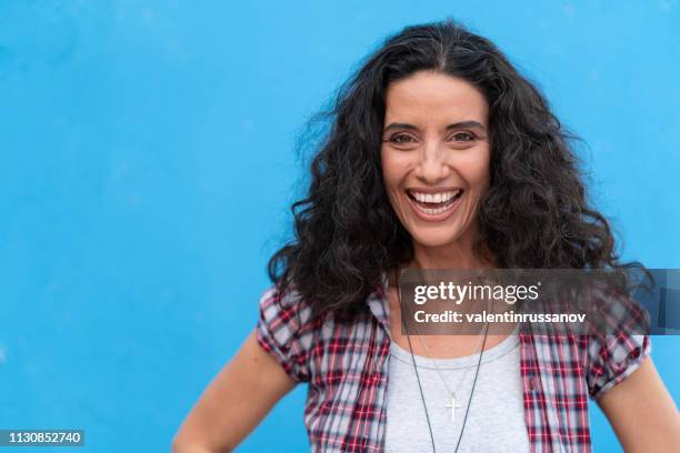
[[[590,451],[588,396],[627,451],[680,451],[646,335],[399,329],[400,269],[622,266],[569,137],[491,42],[452,20],[406,28],[332,119],[257,329],[174,451],[230,451],[299,382],[312,451]]]

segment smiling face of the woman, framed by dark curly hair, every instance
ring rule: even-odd
[[[397,217],[424,246],[468,246],[489,183],[488,105],[462,79],[419,71],[387,90],[381,160]]]

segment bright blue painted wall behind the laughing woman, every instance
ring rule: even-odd
[[[496,41],[588,142],[622,255],[680,268],[678,1],[284,3],[0,0],[0,427],[168,450],[256,323],[297,133],[410,23]],[[653,339],[676,401],[679,346]],[[242,451],[306,450],[303,399]]]

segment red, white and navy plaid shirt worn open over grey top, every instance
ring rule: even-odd
[[[258,343],[297,382],[309,383],[304,424],[312,452],[381,452],[390,351],[387,279],[352,322],[274,285],[260,300]],[[588,397],[598,399],[651,351],[648,335],[532,334],[520,325],[520,371],[531,452],[590,452]]]

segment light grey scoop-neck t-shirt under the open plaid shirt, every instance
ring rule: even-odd
[[[517,329],[501,343],[484,351],[459,453],[529,451],[519,351]],[[432,365],[432,360],[416,355],[434,445],[438,452],[453,452],[470,399],[479,354],[434,361],[441,378],[458,399],[456,406],[460,407],[454,410],[453,420],[450,392]],[[431,452],[432,442],[411,353],[394,342],[390,351],[387,399],[386,452]]]

